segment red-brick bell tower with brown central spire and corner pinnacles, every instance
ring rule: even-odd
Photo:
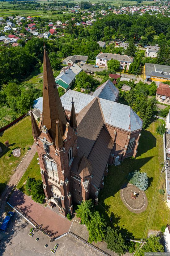
[[[63,110],[49,57],[44,46],[43,113],[38,128],[31,111],[45,199],[49,207],[66,217],[73,212],[71,164],[77,155],[77,121],[72,101],[70,121]]]

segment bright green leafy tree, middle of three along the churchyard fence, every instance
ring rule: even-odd
[[[102,241],[104,239],[104,231],[106,227],[106,222],[100,213],[95,211],[91,217],[91,222],[87,226],[89,231],[88,241],[92,243],[93,241],[97,243],[98,241]]]

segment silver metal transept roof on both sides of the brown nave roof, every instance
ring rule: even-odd
[[[68,90],[62,97],[62,106],[65,110],[71,111],[72,97],[74,100],[75,112],[78,114],[95,97],[85,93]],[[130,108],[117,102],[99,98],[105,123],[117,128],[132,132],[142,128],[142,119]]]

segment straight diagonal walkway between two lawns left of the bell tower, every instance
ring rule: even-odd
[[[16,168],[16,171],[14,175],[12,175],[10,181],[6,185],[5,190],[3,191],[1,197],[0,197],[0,215],[5,210],[5,205],[6,205],[6,199],[9,196],[10,192],[12,189],[17,185],[19,182],[20,178],[23,176],[23,173],[27,169],[29,163],[31,162],[33,156],[36,153],[36,145],[35,143],[32,145],[31,149],[27,152],[27,154],[24,156],[18,167]]]

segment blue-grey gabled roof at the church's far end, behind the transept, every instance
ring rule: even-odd
[[[116,101],[118,94],[119,90],[109,79],[105,83],[103,83],[98,89],[96,89],[96,91],[93,93],[93,96],[109,101]]]

